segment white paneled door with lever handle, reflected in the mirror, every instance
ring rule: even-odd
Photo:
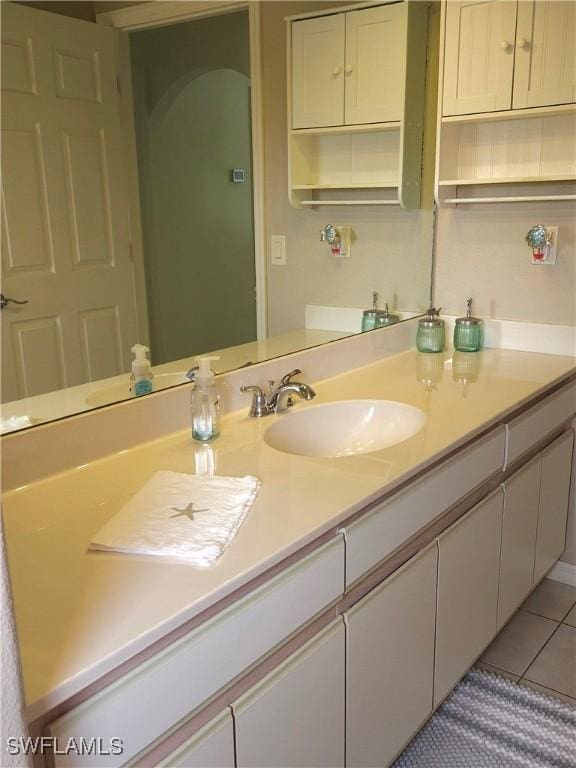
[[[112,30],[2,3],[2,399],[129,369]]]

